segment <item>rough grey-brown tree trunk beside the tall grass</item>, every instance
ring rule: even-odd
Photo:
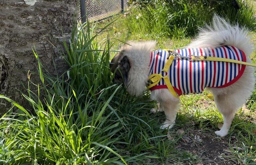
[[[54,74],[67,70],[63,40],[72,31],[78,0],[1,0],[0,2],[0,93],[26,106],[28,70],[37,72],[36,48],[43,66]],[[37,79],[39,82],[39,80]],[[35,83],[38,83],[35,82]],[[19,89],[19,90],[18,90]],[[12,105],[0,99],[0,117]]]

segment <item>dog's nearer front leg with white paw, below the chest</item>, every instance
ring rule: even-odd
[[[174,123],[175,123],[177,110],[179,108],[179,101],[161,102],[161,105],[163,105],[163,107],[164,107],[164,113],[165,113],[166,119],[160,128],[161,129],[165,129],[165,128],[170,129],[174,126]]]

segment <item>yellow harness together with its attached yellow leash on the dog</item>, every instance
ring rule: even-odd
[[[247,63],[247,62],[243,62],[243,61],[237,61],[237,60],[233,60],[233,59],[226,59],[226,58],[221,58],[221,57],[194,56],[194,55],[189,55],[187,57],[187,56],[181,56],[179,53],[176,53],[174,50],[166,50],[166,51],[168,51],[168,57],[167,57],[167,62],[164,66],[164,69],[161,70],[159,74],[152,74],[148,77],[148,80],[150,80],[150,84],[147,86],[147,88],[150,89],[151,87],[155,86],[163,78],[168,90],[172,93],[172,95],[174,97],[177,97],[177,98],[179,98],[179,95],[173,89],[173,86],[170,82],[169,75],[168,75],[168,70],[170,69],[172,61],[175,58],[184,58],[184,59],[188,59],[188,61],[220,61],[220,62],[229,62],[229,63],[236,63],[236,64],[242,64],[242,65],[256,67],[256,64],[251,64],[251,63]],[[165,72],[165,73],[167,73],[167,75],[162,76],[161,72]]]

